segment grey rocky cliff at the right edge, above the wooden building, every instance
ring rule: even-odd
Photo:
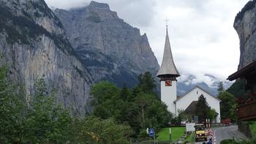
[[[238,69],[256,60],[256,1],[249,1],[236,15],[234,28],[240,39],[240,63]]]

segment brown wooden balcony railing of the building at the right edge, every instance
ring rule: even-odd
[[[256,100],[248,104],[238,106],[239,121],[255,121],[256,120]]]

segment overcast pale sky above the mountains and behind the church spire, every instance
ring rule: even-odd
[[[45,0],[68,10],[89,0]],[[165,19],[176,67],[182,75],[204,74],[225,80],[236,72],[239,39],[233,21],[249,0],[96,0],[110,5],[131,26],[146,33],[159,64],[165,44]]]

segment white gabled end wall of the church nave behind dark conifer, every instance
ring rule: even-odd
[[[191,104],[191,102],[198,100],[198,97],[201,94],[203,94],[203,96],[206,97],[206,101],[208,102],[208,105],[211,108],[214,108],[216,110],[216,112],[219,114],[219,115],[217,115],[216,121],[213,121],[213,122],[220,123],[219,100],[214,98],[213,96],[209,95],[208,93],[206,93],[205,91],[203,91],[202,89],[200,89],[198,87],[194,88],[188,94],[186,94],[181,99],[178,99],[178,101],[176,101],[176,113],[177,113],[177,115],[178,115],[178,109],[186,110],[186,108]]]

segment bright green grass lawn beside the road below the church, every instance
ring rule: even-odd
[[[181,138],[181,136],[184,134],[186,130],[186,127],[172,127],[171,133],[172,133],[172,141],[178,140]],[[159,141],[167,141],[169,140],[169,127],[161,129],[161,131],[158,133]]]

